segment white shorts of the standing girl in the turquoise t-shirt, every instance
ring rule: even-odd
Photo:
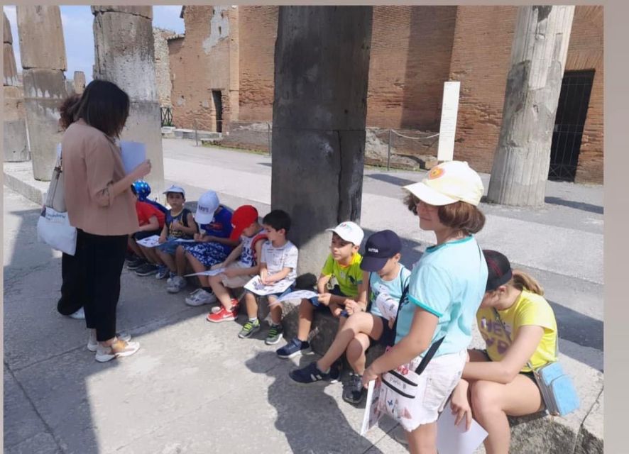
[[[412,400],[411,413],[413,427],[405,424],[408,420],[402,419],[400,424],[407,432],[414,431],[422,424],[430,424],[437,421],[446,405],[450,394],[461,380],[463,367],[467,359],[467,349],[459,353],[451,353],[432,358],[420,377],[425,377],[426,387],[423,396],[417,395]],[[412,370],[420,364],[422,358],[417,357],[411,362]],[[410,421],[408,421],[410,423]]]

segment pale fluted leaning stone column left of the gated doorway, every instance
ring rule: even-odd
[[[544,204],[574,6],[520,6],[487,198]]]

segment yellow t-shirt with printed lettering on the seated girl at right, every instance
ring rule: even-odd
[[[520,326],[536,325],[544,328],[544,336],[530,361],[535,369],[547,362],[557,360],[555,346],[557,345],[557,321],[554,318],[552,307],[548,301],[538,294],[523,290],[513,306],[504,311],[498,311],[501,320],[508,331],[511,341],[518,336]],[[503,359],[510,342],[505,335],[502,323],[496,320],[493,309],[481,308],[476,312],[478,331],[485,340],[487,353],[492,361]],[[525,365],[522,372],[530,372],[530,367]]]

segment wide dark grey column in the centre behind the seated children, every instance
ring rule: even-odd
[[[281,6],[271,205],[287,211],[299,272],[318,275],[325,228],[359,221],[371,6]]]

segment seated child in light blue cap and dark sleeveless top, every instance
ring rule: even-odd
[[[163,279],[168,275],[170,270],[170,278],[168,279],[168,287],[173,288],[172,283],[175,282],[178,287],[185,287],[185,260],[180,256],[180,260],[175,262],[175,252],[181,244],[177,240],[192,240],[192,236],[197,233],[197,223],[192,216],[192,211],[185,208],[185,190],[173,185],[164,191],[166,201],[170,205],[170,210],[166,213],[164,228],[160,234],[157,248],[155,248],[156,257],[160,264],[155,278]],[[165,266],[164,266],[165,265]]]

